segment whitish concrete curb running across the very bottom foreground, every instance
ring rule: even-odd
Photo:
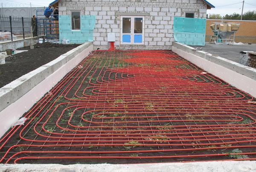
[[[0,165],[7,172],[256,172],[256,161],[212,161],[155,164],[14,164]]]

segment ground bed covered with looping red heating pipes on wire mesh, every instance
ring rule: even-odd
[[[94,51],[3,136],[0,162],[256,160],[254,102],[172,51]]]

